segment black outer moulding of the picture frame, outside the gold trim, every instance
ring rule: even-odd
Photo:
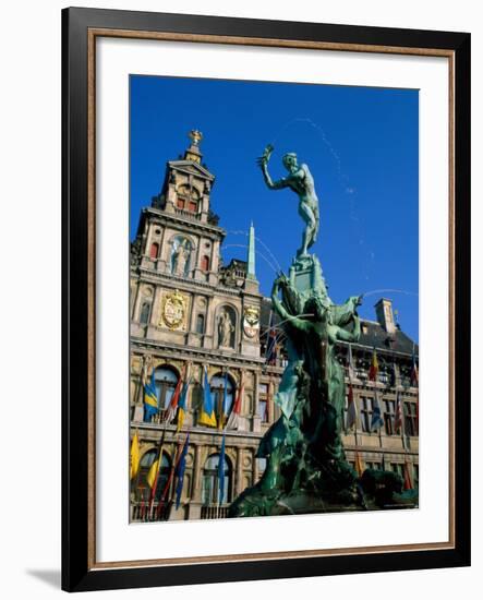
[[[95,329],[92,278],[95,213],[89,185],[89,31],[150,32],[297,40],[328,46],[422,49],[452,56],[454,193],[451,369],[451,547],[412,551],[251,559],[158,566],[96,566],[89,535],[94,499],[92,448]],[[229,43],[229,41],[228,41]],[[382,50],[384,51],[384,50]],[[92,118],[92,112],[90,112]],[[351,25],[228,19],[97,9],[62,11],[62,589],[67,591],[309,577],[470,564],[470,34]],[[90,171],[89,171],[90,169]],[[89,183],[90,182],[90,183]],[[452,188],[451,188],[452,185]],[[92,533],[92,532],[90,532]],[[95,556],[95,548],[94,548]]]

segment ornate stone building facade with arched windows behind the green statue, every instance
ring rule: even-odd
[[[277,321],[269,299],[259,292],[254,230],[250,228],[247,260],[225,266],[220,245],[226,231],[210,209],[215,176],[203,163],[201,133],[193,131],[190,137],[183,157],[168,161],[160,193],[142,211],[131,247],[130,419],[131,436],[137,433],[141,449],[141,468],[131,482],[133,521],[224,517],[229,503],[261,477],[265,463],[256,458],[256,451],[280,415],[273,398],[286,364],[283,339],[277,328],[270,328]],[[366,466],[400,472],[408,464],[416,481],[418,388],[410,379],[418,348],[395,324],[389,300],[376,304],[376,314],[377,321],[363,322],[361,340],[352,345],[352,388],[360,419],[355,431],[345,437],[347,457],[355,463],[358,454]],[[381,364],[377,383],[367,381],[374,348]],[[339,358],[348,363],[348,347],[340,345]],[[243,388],[238,427],[226,429],[222,499],[218,495],[222,432],[198,424],[205,371],[218,422],[224,393],[229,412]],[[145,422],[143,384],[153,374],[160,410]],[[167,423],[165,417],[180,377],[190,379],[191,384],[185,419],[177,433],[176,421]],[[385,425],[371,433],[367,423],[375,388]],[[391,427],[397,393],[406,411],[403,434],[396,434]],[[225,424],[226,418],[220,427]],[[158,509],[156,500],[149,513],[146,476],[161,436],[157,497],[165,491],[172,500],[172,471],[188,432],[181,505],[174,509],[171,503],[162,503]]]

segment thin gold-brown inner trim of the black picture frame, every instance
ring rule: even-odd
[[[68,9],[70,10],[70,9]],[[77,9],[76,9],[77,10]],[[116,11],[113,11],[116,12]],[[65,12],[63,15],[67,14]],[[64,20],[63,20],[64,21]],[[67,26],[65,26],[67,27]],[[255,554],[229,554],[229,555],[216,555],[216,556],[192,556],[188,559],[166,559],[155,561],[122,561],[122,562],[96,562],[96,516],[95,516],[95,41],[98,36],[107,37],[122,37],[122,38],[142,38],[142,39],[164,39],[174,41],[193,41],[193,43],[217,43],[217,44],[240,44],[244,46],[271,46],[271,47],[288,47],[288,48],[304,48],[304,49],[323,49],[335,51],[355,51],[355,52],[383,52],[391,55],[413,55],[413,56],[437,56],[448,58],[449,68],[449,276],[450,276],[450,289],[449,289],[449,419],[450,419],[450,452],[449,452],[449,540],[448,542],[427,543],[427,544],[407,544],[401,545],[388,545],[388,547],[366,547],[366,548],[353,548],[353,549],[337,549],[337,550],[307,550],[307,551],[288,551],[276,553],[255,553]],[[67,41],[63,39],[63,51],[65,50]],[[305,557],[323,557],[323,556],[347,556],[347,555],[372,555],[378,553],[400,553],[400,552],[416,552],[421,550],[435,550],[435,551],[452,551],[456,548],[456,518],[455,518],[455,467],[456,467],[456,448],[455,448],[455,333],[456,333],[456,316],[455,316],[455,303],[456,303],[456,290],[455,290],[455,271],[456,271],[456,116],[455,116],[455,88],[456,88],[456,50],[455,49],[427,49],[427,48],[414,48],[414,47],[400,47],[400,46],[381,46],[381,45],[361,45],[361,44],[336,44],[336,43],[322,43],[322,41],[309,41],[297,39],[276,39],[276,38],[257,38],[257,37],[240,37],[240,36],[220,36],[220,35],[206,35],[206,34],[183,34],[183,33],[161,33],[161,32],[140,32],[135,29],[118,29],[118,28],[102,28],[102,27],[88,27],[87,28],[87,84],[88,84],[88,100],[87,100],[87,123],[88,123],[88,156],[87,156],[87,268],[88,268],[88,519],[87,519],[87,572],[102,572],[105,569],[124,569],[126,567],[155,567],[155,566],[179,566],[179,565],[195,565],[195,564],[219,564],[219,563],[247,563],[250,561],[277,561],[280,559],[305,559]],[[64,71],[64,64],[63,64]],[[63,72],[63,76],[67,75]],[[64,91],[65,93],[65,91]],[[65,125],[68,119],[63,116],[63,123]],[[65,125],[67,127],[67,125]],[[65,136],[65,131],[64,131]],[[64,139],[65,142],[65,139]],[[67,144],[68,147],[68,144]],[[64,148],[65,149],[65,148]],[[63,172],[68,171],[70,165],[63,163]],[[63,189],[63,194],[67,194]],[[65,218],[69,218],[64,214]],[[65,221],[63,223],[65,227]],[[65,242],[65,240],[64,240]],[[69,244],[67,244],[69,245]],[[65,292],[67,293],[67,292]],[[69,316],[64,314],[63,329],[67,326]],[[451,326],[452,324],[452,326]],[[64,345],[67,341],[64,340]],[[64,374],[67,377],[68,375]],[[68,577],[69,578],[69,577]],[[158,584],[159,585],[159,584]],[[64,589],[68,589],[65,586]],[[70,589],[73,589],[72,586]],[[94,589],[94,588],[84,588]]]

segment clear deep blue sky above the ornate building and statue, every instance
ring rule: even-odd
[[[253,220],[257,277],[268,296],[273,266],[288,271],[303,229],[297,195],[267,190],[256,166],[271,143],[274,179],[286,173],[286,152],[315,179],[321,230],[311,251],[333,301],[364,292],[360,313],[375,320],[375,302],[390,298],[401,328],[418,340],[418,113],[413,89],[133,75],[131,238],[141,208],[159,192],[166,161],[200,129],[203,160],[216,176],[212,208],[228,232],[224,260],[245,259],[240,247]]]

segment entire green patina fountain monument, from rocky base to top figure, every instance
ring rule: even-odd
[[[318,202],[305,165],[290,153],[283,157],[289,177],[273,182],[267,146],[258,164],[270,189],[290,187],[300,197],[306,223],[303,244],[289,275],[274,281],[271,302],[286,334],[288,365],[274,397],[281,416],[261,441],[257,457],[266,459],[261,480],[230,505],[230,517],[361,511],[398,503],[400,481],[369,473],[359,479],[346,460],[341,434],[346,384],[336,344],[358,341],[361,324],[353,296],[335,304],[327,293],[321,264],[307,254],[318,231]],[[397,476],[399,477],[399,476]],[[376,478],[377,479],[377,478]],[[404,507],[411,505],[404,500]],[[414,503],[412,504],[414,505]]]

